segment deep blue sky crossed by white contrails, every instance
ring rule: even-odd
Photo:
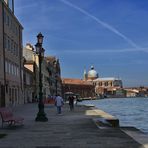
[[[23,45],[44,35],[46,55],[59,58],[65,78],[99,77],[124,87],[148,86],[147,0],[15,0]]]

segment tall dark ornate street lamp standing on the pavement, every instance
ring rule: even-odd
[[[39,33],[37,35],[37,43],[35,45],[36,54],[38,55],[39,58],[39,103],[38,103],[39,111],[37,113],[35,121],[46,122],[48,121],[48,118],[46,117],[46,114],[44,112],[43,92],[42,92],[43,84],[42,84],[42,73],[41,73],[41,65],[45,52],[44,48],[42,48],[43,38],[44,36],[41,33]]]

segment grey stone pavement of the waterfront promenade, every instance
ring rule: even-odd
[[[35,122],[37,104],[13,108],[24,117],[24,126],[0,128],[6,133],[0,148],[142,148],[120,128],[98,128],[92,119],[99,115],[89,107],[76,106],[73,112],[64,105],[62,115],[53,105],[45,105],[48,122]],[[86,114],[87,112],[87,114]]]

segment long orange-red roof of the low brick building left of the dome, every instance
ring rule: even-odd
[[[62,78],[63,84],[75,84],[75,85],[92,85],[91,82],[84,81],[81,79],[73,79],[73,78]]]

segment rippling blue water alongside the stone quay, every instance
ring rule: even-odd
[[[120,126],[134,126],[148,134],[148,98],[115,98],[83,101],[120,120]]]

